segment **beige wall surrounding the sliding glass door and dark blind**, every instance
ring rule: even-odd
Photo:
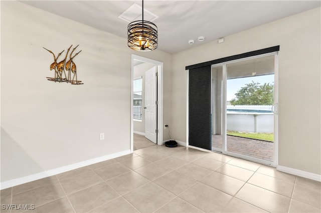
[[[172,137],[186,141],[185,66],[280,45],[278,164],[321,174],[320,25],[319,7],[174,54]]]

